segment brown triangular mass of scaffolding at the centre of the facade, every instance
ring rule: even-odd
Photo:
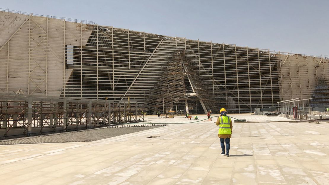
[[[171,55],[144,107],[154,112],[164,108],[183,114],[204,114],[208,109],[216,110],[212,89],[202,83],[195,61],[186,56],[185,50]]]

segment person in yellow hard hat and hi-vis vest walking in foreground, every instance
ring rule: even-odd
[[[229,157],[229,151],[230,151],[230,139],[232,136],[232,120],[226,116],[226,109],[221,108],[220,111],[220,117],[216,121],[216,125],[219,126],[218,129],[218,137],[220,139],[220,147],[222,148],[221,155],[226,155]],[[225,154],[225,145],[226,144],[226,154]]]

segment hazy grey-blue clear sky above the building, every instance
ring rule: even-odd
[[[328,0],[1,0],[0,8],[270,51],[329,54]]]

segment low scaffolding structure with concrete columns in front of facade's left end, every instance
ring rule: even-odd
[[[128,107],[125,101],[1,94],[0,137],[132,123],[140,110],[134,101]]]

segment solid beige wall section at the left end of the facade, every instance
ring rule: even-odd
[[[0,32],[6,34],[0,43],[5,44],[27,17],[1,12]],[[64,66],[65,45],[85,46],[91,31],[86,24],[81,28],[80,23],[31,16],[0,51],[0,92],[21,89],[25,94],[60,96],[72,71]]]

